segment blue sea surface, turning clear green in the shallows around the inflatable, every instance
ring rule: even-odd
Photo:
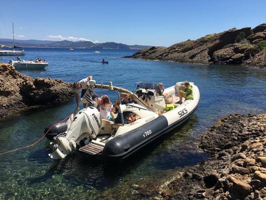
[[[174,169],[194,165],[208,155],[197,149],[201,134],[218,119],[234,113],[266,112],[266,70],[230,65],[195,65],[122,58],[136,50],[25,48],[22,60],[46,59],[44,70],[19,70],[36,77],[78,81],[93,75],[98,83],[132,90],[140,80],[163,82],[193,81],[200,90],[200,103],[182,127],[144,148],[121,163],[96,160],[74,153],[64,160],[47,155],[44,138],[32,148],[0,156],[0,199],[146,199],[153,198],[154,185],[174,174]],[[105,58],[109,64],[101,64]],[[0,62],[16,60],[0,57]],[[115,93],[108,94],[113,101]],[[33,144],[51,122],[64,119],[75,109],[75,99],[0,120],[0,152]],[[139,188],[146,188],[144,193]],[[143,195],[146,194],[146,195]]]

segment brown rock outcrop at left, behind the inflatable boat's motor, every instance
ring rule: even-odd
[[[60,79],[33,79],[0,63],[0,118],[31,106],[65,102],[73,95],[71,86]]]

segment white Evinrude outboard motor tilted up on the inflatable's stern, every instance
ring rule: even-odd
[[[101,128],[100,113],[94,107],[88,107],[79,111],[69,129],[66,136],[55,137],[55,142],[50,143],[53,153],[49,154],[52,159],[64,159],[73,150],[76,145],[84,138],[96,138]]]

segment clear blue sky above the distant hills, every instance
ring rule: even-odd
[[[0,0],[0,38],[170,46],[266,23],[266,0]]]

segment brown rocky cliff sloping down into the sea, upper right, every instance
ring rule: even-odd
[[[198,40],[176,43],[168,48],[153,46],[127,57],[198,64],[241,64],[247,61],[245,65],[252,63],[251,66],[265,68],[265,59],[257,56],[265,48],[258,44],[265,40],[266,24],[261,24],[254,29],[233,28]],[[256,61],[252,61],[253,58]]]

